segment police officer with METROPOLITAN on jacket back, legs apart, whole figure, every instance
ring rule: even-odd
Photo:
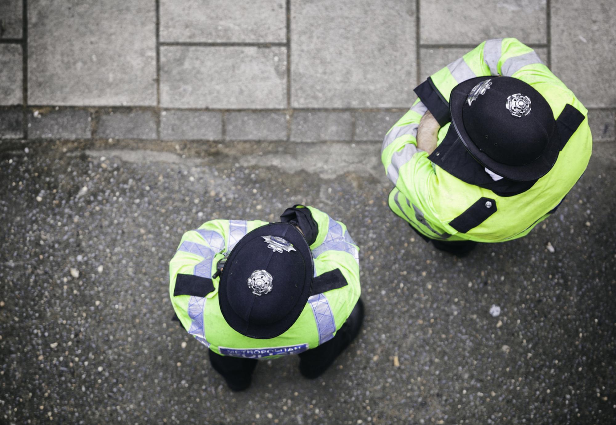
[[[313,207],[280,222],[213,220],[184,233],[169,294],[188,333],[209,349],[230,389],[248,388],[257,359],[298,354],[320,376],[359,334],[359,248]]]

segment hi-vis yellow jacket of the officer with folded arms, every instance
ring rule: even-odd
[[[453,87],[490,75],[525,81],[552,108],[561,152],[553,168],[538,180],[494,181],[477,161],[439,157],[441,144],[456,137],[453,126],[449,131],[448,100]],[[434,73],[415,92],[419,99],[387,132],[381,160],[395,185],[389,194],[390,208],[423,237],[480,242],[522,237],[557,208],[586,169],[592,149],[588,111],[535,51],[515,38],[482,42]],[[437,150],[430,156],[417,148],[416,141],[419,120],[427,110],[441,126]]]

